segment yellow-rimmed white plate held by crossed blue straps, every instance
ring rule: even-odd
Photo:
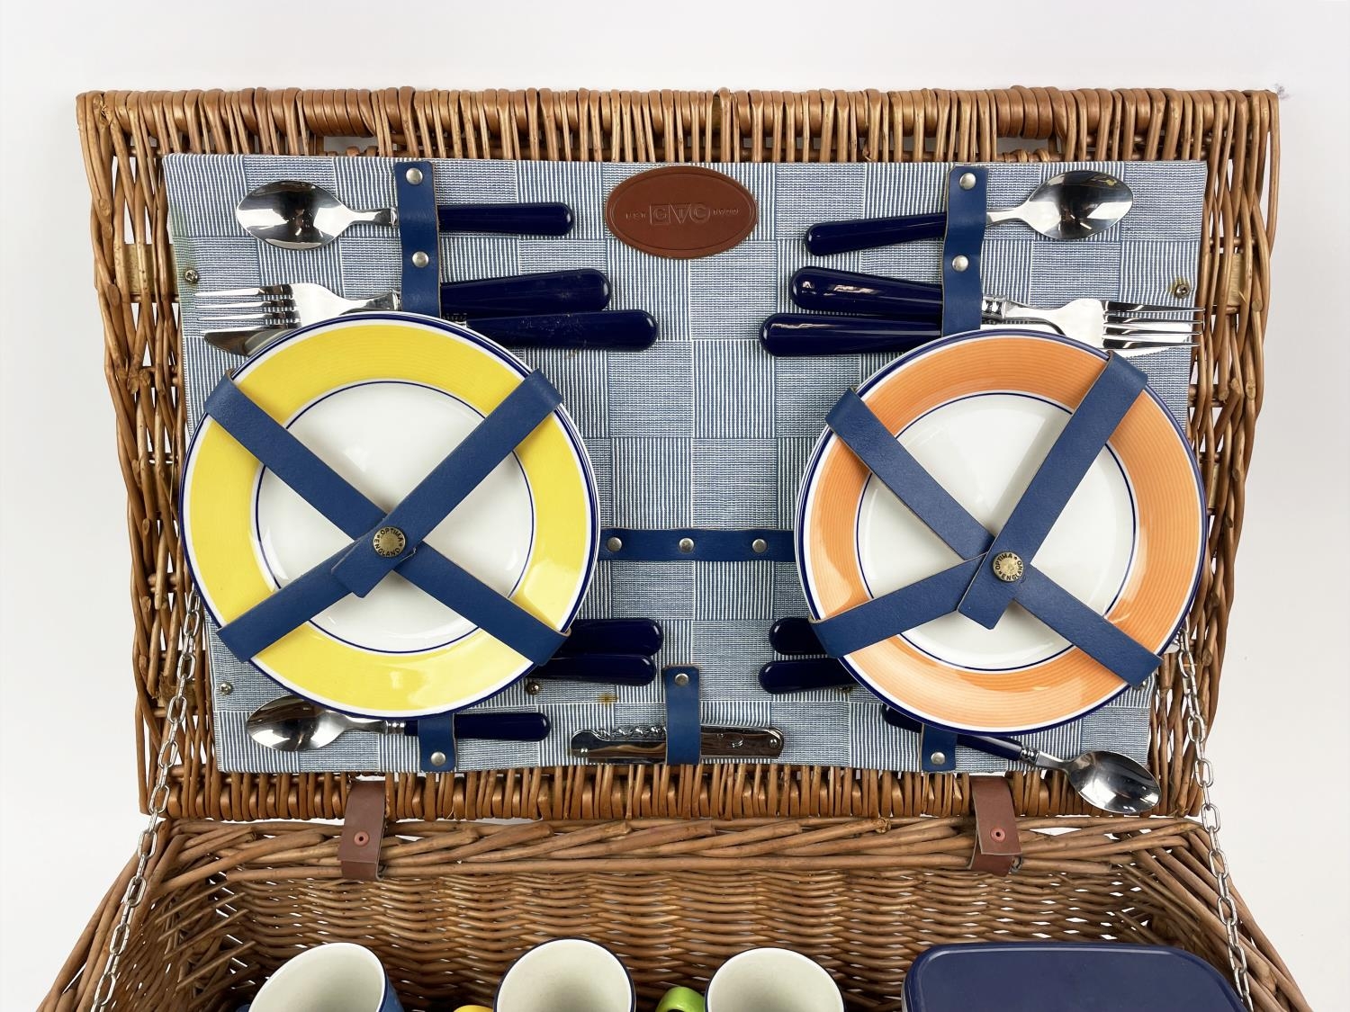
[[[387,510],[510,393],[528,368],[473,331],[363,313],[297,331],[235,382],[339,475]],[[205,418],[182,487],[188,564],[221,625],[350,544]],[[595,482],[559,407],[427,538],[554,629],[595,564]],[[531,663],[397,572],[262,650],[282,685],[351,712],[410,718],[470,706]]]

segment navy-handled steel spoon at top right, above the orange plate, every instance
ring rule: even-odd
[[[1015,208],[990,210],[986,221],[1023,221],[1049,239],[1085,239],[1103,232],[1134,205],[1134,193],[1107,173],[1075,169],[1046,179]],[[946,213],[824,221],[806,232],[806,248],[817,256],[869,250],[875,246],[941,239]]]

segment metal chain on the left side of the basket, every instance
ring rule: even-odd
[[[136,870],[131,876],[131,881],[127,882],[127,891],[122,895],[117,924],[108,936],[108,962],[104,965],[99,985],[93,992],[93,1012],[104,1012],[112,1003],[112,989],[117,985],[122,954],[127,951],[127,943],[131,940],[131,916],[146,899],[146,868],[155,855],[159,824],[169,808],[169,770],[181,758],[178,735],[182,733],[182,725],[188,716],[186,692],[188,683],[192,681],[197,669],[197,633],[200,630],[201,600],[197,598],[196,588],[190,588],[182,627],[178,630],[178,665],[174,669],[173,695],[165,710],[165,733],[155,758],[155,787],[150,792],[148,806],[150,819],[136,841]]]

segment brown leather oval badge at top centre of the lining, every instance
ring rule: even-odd
[[[711,169],[672,165],[625,179],[609,194],[605,221],[628,246],[691,259],[730,250],[759,220],[755,196]]]

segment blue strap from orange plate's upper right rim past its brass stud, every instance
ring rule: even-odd
[[[1007,524],[990,545],[990,564],[980,568],[961,599],[963,615],[986,629],[998,625],[1017,596],[1018,583],[999,579],[994,572],[994,560],[1003,552],[1013,552],[1023,565],[1035,559],[1050,528],[1083,482],[1083,475],[1148,382],[1143,372],[1119,355],[1107,359],[1106,368],[1069,416],[1064,432],[1054,440]]]

